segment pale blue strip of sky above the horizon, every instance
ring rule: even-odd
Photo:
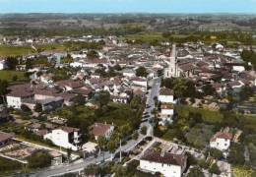
[[[256,14],[256,0],[0,0],[5,13]]]

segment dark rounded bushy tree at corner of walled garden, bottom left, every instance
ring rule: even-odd
[[[45,150],[37,150],[28,158],[29,167],[43,168],[51,165],[52,156]]]

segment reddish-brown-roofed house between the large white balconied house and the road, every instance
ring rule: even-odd
[[[96,141],[99,137],[109,140],[114,131],[114,126],[109,124],[95,123],[91,126],[91,134],[95,136]]]

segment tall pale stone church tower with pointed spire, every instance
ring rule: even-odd
[[[165,69],[164,77],[165,78],[178,77],[176,44],[172,44],[171,54],[168,61],[168,67]]]

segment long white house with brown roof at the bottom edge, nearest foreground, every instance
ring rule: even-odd
[[[185,154],[147,150],[140,159],[140,168],[161,173],[164,177],[181,177],[187,166]]]

